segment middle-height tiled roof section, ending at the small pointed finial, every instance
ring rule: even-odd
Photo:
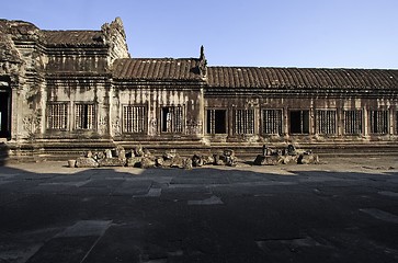
[[[113,64],[114,79],[202,80],[196,58],[122,58]]]

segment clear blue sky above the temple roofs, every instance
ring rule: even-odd
[[[14,0],[0,18],[100,30],[121,16],[133,57],[211,66],[398,68],[397,0]]]

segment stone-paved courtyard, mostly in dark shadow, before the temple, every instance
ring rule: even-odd
[[[398,262],[398,158],[0,167],[4,262]]]

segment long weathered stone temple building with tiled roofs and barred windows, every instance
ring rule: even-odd
[[[152,150],[398,149],[398,70],[209,67],[132,58],[121,19],[98,31],[0,20],[0,146],[8,158]]]

